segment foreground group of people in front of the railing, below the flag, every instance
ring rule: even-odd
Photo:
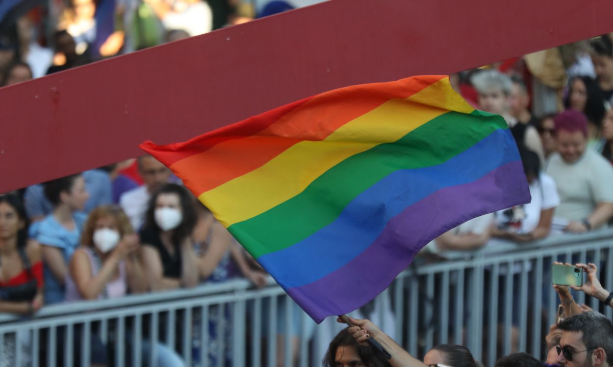
[[[598,280],[595,264],[576,264],[584,269],[587,279],[576,291],[595,297],[613,308],[613,292],[606,291]],[[494,367],[608,367],[613,365],[613,322],[601,313],[574,301],[566,286],[554,286],[563,305],[564,313],[551,325],[544,340],[547,346],[545,361],[518,352],[501,357]],[[338,319],[338,322],[344,323]],[[325,367],[482,367],[466,347],[452,344],[435,346],[424,355],[422,361],[414,358],[394,339],[382,332],[367,319],[349,319],[351,325],[344,328],[330,343],[323,364]],[[378,350],[370,339],[383,347]],[[387,355],[386,355],[387,354]]]

